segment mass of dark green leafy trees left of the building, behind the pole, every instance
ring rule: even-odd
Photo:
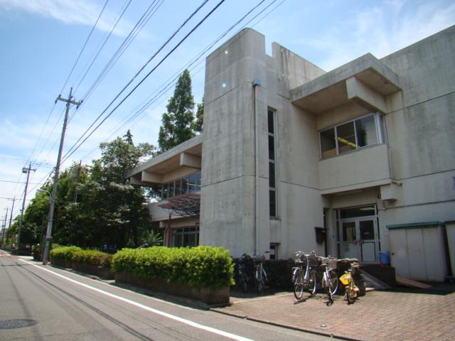
[[[143,157],[151,156],[151,144],[134,146],[131,131],[123,138],[100,144],[101,158],[92,166],[74,163],[58,178],[55,197],[53,242],[63,245],[100,248],[103,244],[139,246],[149,230],[149,212],[139,186],[127,179],[127,171]],[[42,190],[50,191],[50,184]],[[76,200],[77,199],[77,200]],[[27,242],[40,242],[43,222],[47,222],[49,197],[37,193],[23,219]],[[16,231],[16,225],[11,233]]]

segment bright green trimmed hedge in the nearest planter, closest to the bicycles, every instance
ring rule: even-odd
[[[112,259],[113,272],[203,288],[232,285],[233,269],[222,247],[122,249]]]

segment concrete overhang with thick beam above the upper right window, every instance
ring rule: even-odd
[[[314,114],[348,102],[385,112],[385,97],[401,89],[399,77],[370,53],[291,90],[291,102]]]

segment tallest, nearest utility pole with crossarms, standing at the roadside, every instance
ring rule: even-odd
[[[59,94],[57,99],[55,99],[55,103],[57,103],[57,101],[66,102],[66,110],[65,110],[65,119],[63,119],[63,129],[62,129],[62,136],[60,138],[60,146],[58,148],[57,164],[55,165],[54,183],[52,186],[52,193],[50,195],[48,228],[46,229],[46,232],[45,232],[43,265],[47,265],[48,259],[49,259],[50,240],[52,239],[52,221],[53,221],[53,217],[54,217],[54,208],[55,208],[55,195],[57,194],[58,174],[60,173],[60,161],[62,159],[63,142],[65,141],[66,125],[68,124],[68,113],[70,112],[71,104],[74,104],[77,109],[80,106],[80,104],[82,103],[82,101],[80,101],[80,102],[73,101],[73,87],[70,89],[70,96],[68,96],[68,99],[64,99],[62,97],[62,95]]]

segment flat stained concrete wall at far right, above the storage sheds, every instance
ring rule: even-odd
[[[380,224],[455,217],[455,26],[382,58],[400,76],[387,114],[392,177],[400,196]]]

